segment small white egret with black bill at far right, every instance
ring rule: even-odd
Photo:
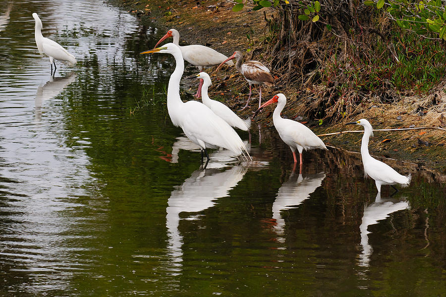
[[[361,158],[362,164],[364,165],[364,174],[365,177],[368,175],[375,180],[378,192],[381,192],[382,185],[390,185],[396,191],[398,190],[393,185],[409,185],[410,174],[408,176],[401,175],[386,163],[378,161],[370,155],[369,138],[373,136],[373,129],[368,120],[360,119],[359,121],[347,123],[347,125],[360,125],[364,127],[364,135],[361,141]]]

